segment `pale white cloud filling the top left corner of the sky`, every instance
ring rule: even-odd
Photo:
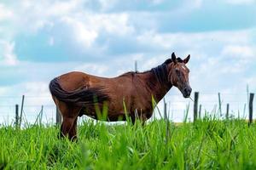
[[[37,33],[42,28],[52,27],[58,18],[81,11],[81,3],[83,3],[82,0],[38,1],[37,3],[24,0],[8,3],[5,6],[0,3],[0,21],[2,18],[8,19],[10,26],[16,28],[6,30],[13,31],[11,38],[20,33]]]

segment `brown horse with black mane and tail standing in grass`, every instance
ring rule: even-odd
[[[125,121],[127,116],[145,122],[154,111],[156,103],[172,88],[177,87],[188,98],[189,69],[186,59],[167,59],[150,71],[127,72],[119,77],[96,77],[83,72],[69,72],[56,77],[49,83],[49,90],[55,105],[61,111],[63,122],[61,136],[76,139],[78,116],[87,115],[100,119],[98,111],[108,107],[107,121]]]

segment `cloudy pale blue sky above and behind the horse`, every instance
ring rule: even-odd
[[[41,105],[44,119],[54,118],[49,81],[68,71],[116,77],[135,60],[145,71],[172,52],[191,55],[203,110],[214,109],[219,92],[241,111],[247,85],[256,92],[255,16],[255,0],[0,0],[0,122],[12,121],[23,94],[28,119]],[[166,101],[174,121],[193,105],[177,88]]]

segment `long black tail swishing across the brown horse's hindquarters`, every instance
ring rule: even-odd
[[[109,100],[108,94],[104,94],[102,88],[79,88],[68,92],[61,88],[58,77],[49,82],[49,91],[55,98],[78,106],[102,104]]]

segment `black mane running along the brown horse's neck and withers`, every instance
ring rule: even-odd
[[[149,71],[143,71],[143,72],[129,71],[129,72],[125,72],[121,76],[129,76],[129,75],[134,76],[136,74],[143,74],[143,73],[147,73],[147,72],[152,72],[154,74],[154,76],[157,78],[158,82],[164,83],[164,82],[168,81],[167,65],[169,65],[172,62],[173,62],[172,59],[166,59],[166,61],[163,64],[158,65],[158,66],[152,68]],[[182,63],[183,59],[177,58],[177,62]]]

